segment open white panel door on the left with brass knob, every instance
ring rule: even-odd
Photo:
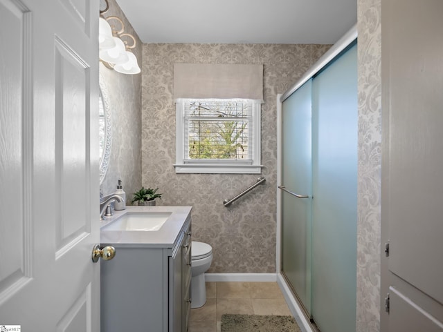
[[[99,331],[98,3],[0,0],[0,325]]]

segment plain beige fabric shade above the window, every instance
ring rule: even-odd
[[[263,102],[263,65],[174,64],[174,99],[179,98]]]

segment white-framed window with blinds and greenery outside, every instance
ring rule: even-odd
[[[176,173],[261,173],[260,104],[178,99]]]

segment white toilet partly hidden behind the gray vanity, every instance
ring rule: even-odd
[[[205,272],[213,262],[213,247],[204,242],[191,245],[191,308],[200,308],[206,302]]]

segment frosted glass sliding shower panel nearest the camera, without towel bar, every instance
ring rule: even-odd
[[[356,45],[312,82],[312,317],[320,331],[355,331]]]

